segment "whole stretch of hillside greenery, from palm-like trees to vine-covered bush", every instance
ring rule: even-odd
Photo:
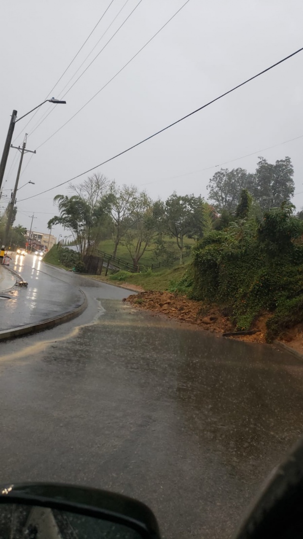
[[[72,187],[71,197],[55,197],[59,215],[49,223],[71,231],[80,255],[57,249],[46,260],[83,271],[82,256],[99,247],[139,269],[179,255],[180,268],[119,271],[108,279],[216,303],[237,330],[266,315],[272,340],[303,322],[303,221],[290,203],[291,160],[271,164],[260,157],[253,174],[221,169],[208,188],[213,205],[175,192],[152,201],[135,186],[94,175]],[[188,248],[192,264],[182,265]]]

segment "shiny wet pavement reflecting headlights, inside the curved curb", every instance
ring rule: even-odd
[[[33,324],[79,307],[83,296],[61,279],[61,273],[43,264],[36,255],[12,254],[10,268],[28,282],[14,287],[10,300],[2,300],[0,330]],[[65,272],[66,273],[66,272]]]

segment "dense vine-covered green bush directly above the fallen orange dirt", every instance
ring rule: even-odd
[[[176,289],[217,303],[238,330],[270,314],[267,338],[272,340],[303,321],[303,223],[290,203],[265,211],[261,219],[249,218],[250,205],[243,191],[242,218],[197,243],[191,270]]]

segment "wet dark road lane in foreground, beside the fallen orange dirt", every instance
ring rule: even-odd
[[[112,489],[148,503],[163,537],[229,537],[302,434],[303,363],[62,275],[88,309],[1,347],[1,481]]]

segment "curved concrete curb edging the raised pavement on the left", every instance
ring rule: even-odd
[[[80,290],[80,292],[83,296],[83,302],[79,307],[76,307],[68,313],[61,314],[60,316],[53,316],[52,318],[43,320],[43,322],[37,322],[36,324],[28,324],[27,326],[19,326],[18,328],[0,331],[0,341],[14,337],[21,337],[23,335],[29,335],[30,333],[39,333],[39,331],[51,329],[55,326],[59,326],[59,324],[69,322],[70,320],[77,318],[77,316],[82,314],[87,307],[86,295],[84,292],[82,292],[82,290]]]

